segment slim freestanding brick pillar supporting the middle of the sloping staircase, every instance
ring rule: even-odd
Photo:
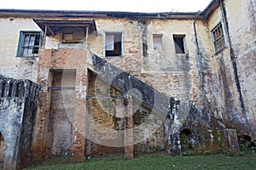
[[[125,159],[133,159],[132,98],[124,95],[125,108]]]

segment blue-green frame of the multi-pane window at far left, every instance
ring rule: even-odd
[[[29,41],[28,43],[31,42],[31,37],[35,36],[35,39],[32,40],[34,41],[33,45],[25,45],[25,37],[26,35],[29,36]],[[38,38],[36,38],[36,36],[39,36]],[[35,45],[35,42],[38,41],[38,44]],[[17,54],[16,57],[38,57],[39,56],[39,50],[41,48],[41,42],[42,42],[42,32],[41,31],[20,31],[20,37],[19,37],[19,42],[18,42],[18,48],[17,48]],[[26,53],[24,54],[24,50],[26,48],[32,47],[32,53]],[[38,53],[34,53],[34,48],[38,48]]]

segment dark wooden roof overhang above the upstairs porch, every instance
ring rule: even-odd
[[[35,23],[46,31],[46,36],[55,36],[59,31],[66,27],[86,27],[89,28],[88,33],[96,33],[95,20],[82,20],[82,19],[33,19]]]

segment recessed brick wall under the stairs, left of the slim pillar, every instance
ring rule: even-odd
[[[124,153],[123,94],[100,78],[90,76],[88,96],[86,154]]]

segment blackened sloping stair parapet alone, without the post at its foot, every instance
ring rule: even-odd
[[[170,111],[170,97],[161,94],[145,82],[137,79],[137,77],[110,64],[96,54],[89,54],[89,56],[91,59],[88,59],[88,68],[94,71],[97,77],[114,88],[121,90],[124,94],[129,94],[140,100],[144,106],[157,116],[166,118],[167,113]]]

